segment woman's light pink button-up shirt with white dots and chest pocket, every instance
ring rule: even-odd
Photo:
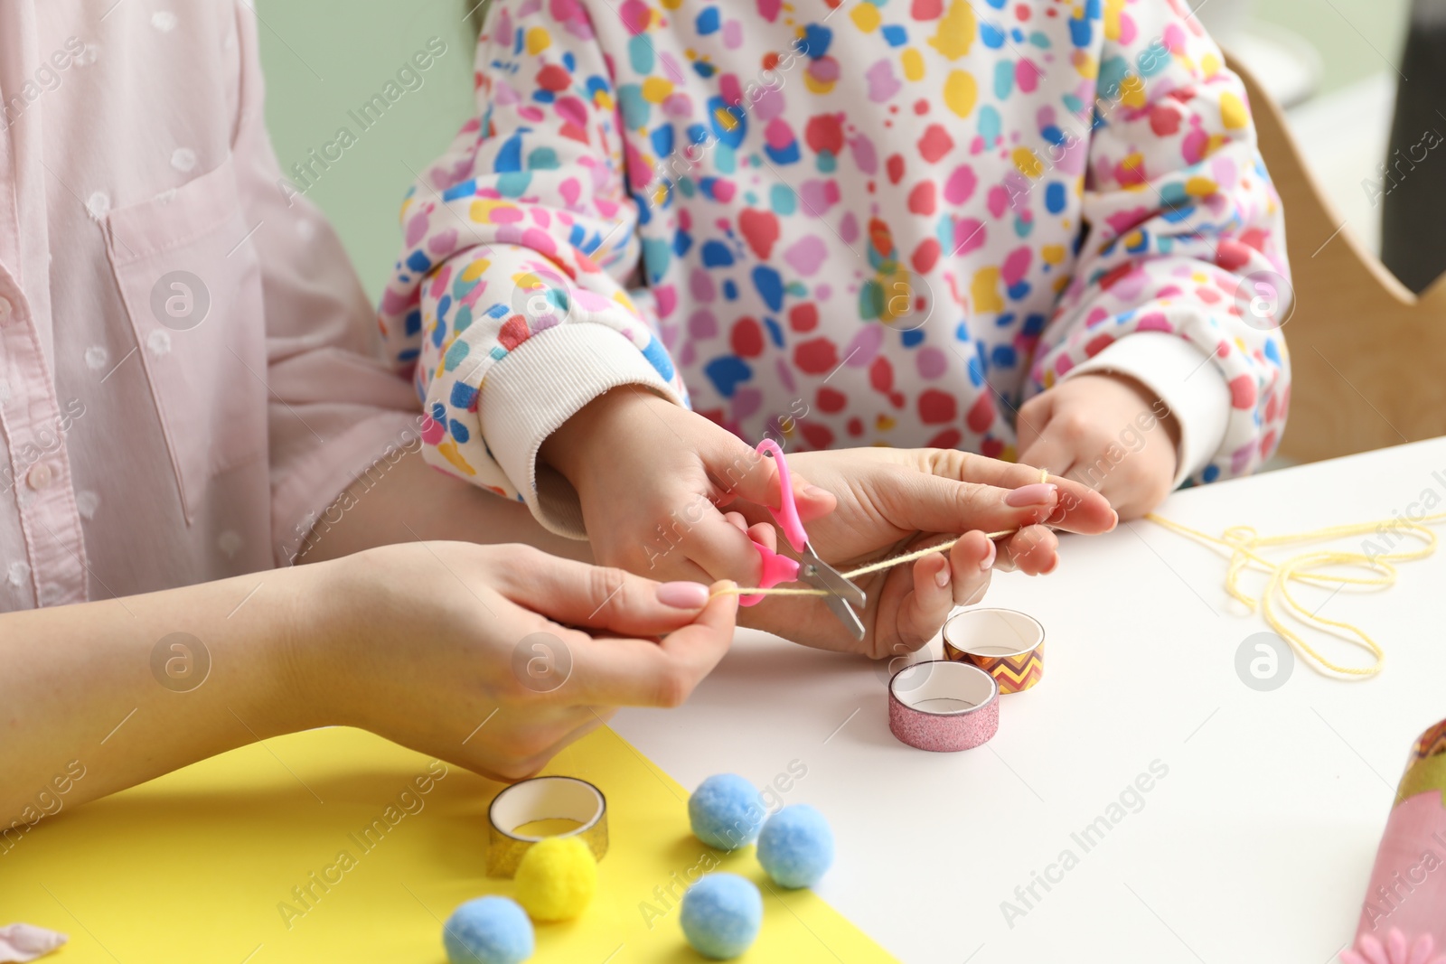
[[[246,3],[0,3],[0,611],[285,562],[414,431],[262,100]]]

